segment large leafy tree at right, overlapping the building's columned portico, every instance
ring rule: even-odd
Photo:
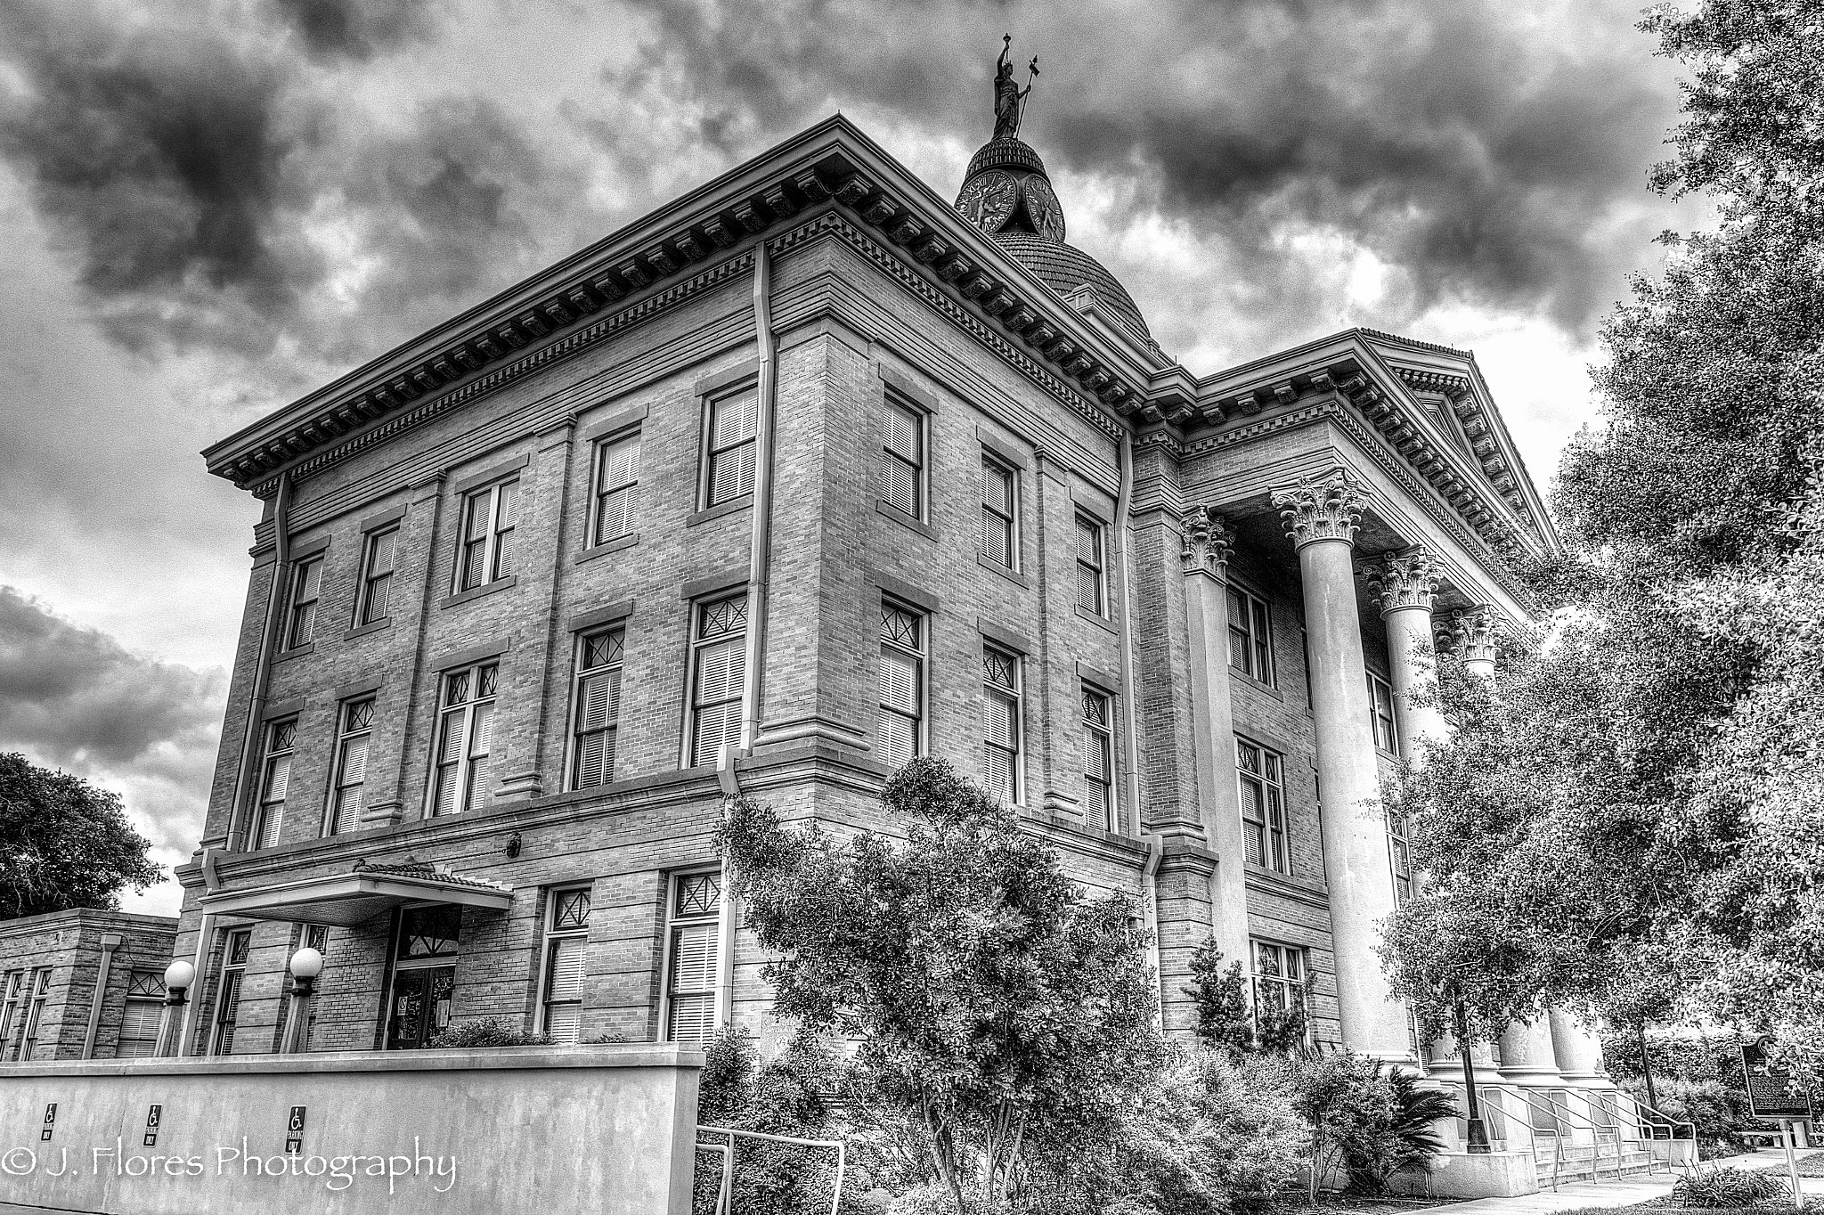
[[[1395,985],[1496,976],[1618,1025],[1711,1018],[1824,1075],[1824,2],[1649,11],[1693,69],[1656,188],[1715,232],[1603,328],[1607,425],[1569,449],[1550,628],[1496,686],[1441,662],[1454,737],[1390,792],[1432,881]]]

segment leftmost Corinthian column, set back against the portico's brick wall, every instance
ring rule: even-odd
[[[1191,724],[1197,801],[1217,872],[1209,879],[1211,932],[1226,961],[1248,956],[1248,865],[1235,784],[1235,708],[1229,701],[1229,555],[1235,533],[1209,507],[1184,514],[1184,608],[1191,639]]]

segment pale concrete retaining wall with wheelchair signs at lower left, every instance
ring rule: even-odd
[[[669,1045],[13,1065],[0,1202],[688,1215],[700,1067]]]

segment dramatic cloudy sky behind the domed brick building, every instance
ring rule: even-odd
[[[9,0],[0,750],[195,850],[257,504],[197,451],[845,113],[954,195],[992,62],[1069,239],[1195,374],[1472,348],[1549,487],[1653,237],[1629,0]],[[1021,73],[1023,78],[1023,73]],[[177,887],[128,892],[175,912]]]

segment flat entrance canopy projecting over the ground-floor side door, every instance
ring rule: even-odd
[[[394,907],[456,905],[507,910],[513,890],[480,878],[447,874],[429,865],[356,865],[348,874],[279,881],[246,890],[217,890],[199,910],[248,919],[288,919],[348,929]]]

